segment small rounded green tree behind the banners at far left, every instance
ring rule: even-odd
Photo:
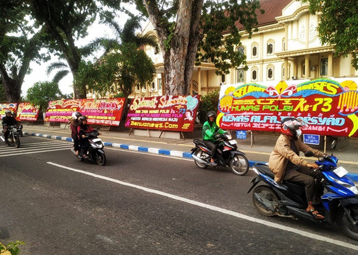
[[[35,106],[40,106],[42,111],[47,110],[49,101],[64,97],[58,84],[54,82],[37,82],[27,91],[27,100]]]

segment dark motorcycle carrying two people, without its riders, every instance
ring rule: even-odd
[[[94,130],[90,133],[85,134],[85,137],[88,138],[89,146],[87,148],[87,159],[92,162],[96,162],[100,166],[104,166],[106,164],[106,156],[104,154],[104,144],[102,143],[102,140],[100,138],[97,138],[99,135],[99,132],[97,130]],[[74,149],[71,149],[74,154],[76,154],[76,151]],[[79,161],[85,160],[84,157],[81,155],[77,155],[77,158]]]

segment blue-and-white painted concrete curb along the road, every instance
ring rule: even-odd
[[[71,137],[51,136],[51,135],[43,135],[43,134],[29,133],[29,132],[24,132],[24,135],[37,136],[37,137],[44,137],[44,138],[50,138],[50,139],[73,142]],[[121,148],[121,149],[129,149],[129,150],[135,150],[135,151],[141,151],[141,152],[148,152],[148,153],[152,153],[152,154],[161,154],[161,155],[168,155],[168,156],[173,156],[173,157],[192,159],[190,152],[184,152],[184,151],[178,151],[178,150],[169,150],[169,149],[151,148],[151,147],[143,147],[143,146],[122,144],[122,143],[103,142],[103,144],[104,144],[104,146],[109,146],[109,147],[117,147],[117,148]],[[255,163],[265,164],[266,162],[249,160],[250,167],[255,165]],[[356,174],[356,173],[348,173],[347,176],[350,177],[350,179],[352,179],[353,182],[358,182],[358,174]]]

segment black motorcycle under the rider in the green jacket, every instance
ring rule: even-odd
[[[228,133],[218,136],[217,152],[214,160],[218,166],[230,166],[233,173],[237,175],[244,175],[249,171],[249,161],[245,154],[237,150],[237,141],[232,139]],[[211,166],[211,151],[205,145],[204,141],[194,139],[194,148],[191,149],[191,156],[198,168],[205,169]]]

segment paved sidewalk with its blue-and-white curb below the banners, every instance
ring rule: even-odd
[[[24,124],[24,135],[41,136],[58,140],[72,141],[69,126],[66,129],[60,126]],[[193,148],[193,138],[171,139],[149,136],[129,135],[129,130],[102,131],[101,139],[105,146],[121,147],[123,149],[137,150],[154,154],[164,154],[175,157],[191,158],[190,149]],[[247,155],[252,166],[255,162],[267,162],[272,148],[275,146],[278,135],[254,134],[255,143],[251,147],[251,139],[248,135],[246,140],[237,139],[238,149]],[[201,139],[199,136],[195,137]],[[327,144],[327,154],[331,153],[330,145]],[[338,157],[339,165],[344,166],[349,172],[353,181],[358,182],[358,140],[350,140],[349,145],[334,150],[334,156]],[[314,158],[309,160],[314,161]]]

